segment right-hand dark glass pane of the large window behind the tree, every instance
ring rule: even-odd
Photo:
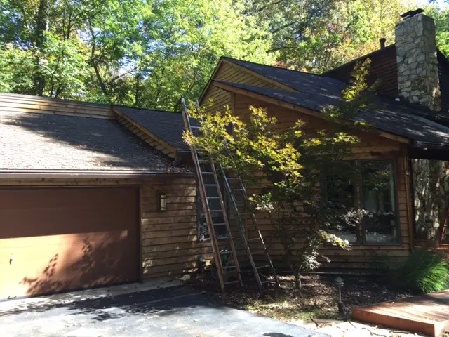
[[[394,164],[361,161],[363,235],[368,243],[398,242]]]

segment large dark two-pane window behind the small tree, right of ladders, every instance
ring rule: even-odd
[[[358,178],[344,178],[338,173],[326,177],[322,192],[326,192],[328,205],[337,213],[329,232],[351,243],[397,243],[394,162],[362,160],[352,161],[351,165],[358,166]],[[362,209],[361,220],[361,213],[354,212],[358,206]]]

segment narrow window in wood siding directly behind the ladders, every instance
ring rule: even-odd
[[[201,168],[203,169],[203,168]],[[203,175],[203,181],[205,185],[214,185],[215,180],[213,178],[213,175]],[[220,183],[220,189],[222,193],[225,193],[225,186],[223,185],[223,182]],[[215,235],[217,238],[225,238],[227,237],[227,230],[225,225],[225,219],[223,218],[223,214],[221,212],[221,206],[220,206],[220,199],[212,199],[215,197],[218,197],[217,193],[217,187],[215,186],[206,186],[206,194],[210,199],[208,199],[209,203],[209,209],[211,210],[210,215],[212,216],[212,222],[214,224],[217,224],[214,226]],[[226,198],[224,199],[225,206],[227,206]],[[226,207],[227,209],[227,207]],[[219,212],[214,212],[215,210]],[[201,195],[199,193],[199,189],[196,191],[196,214],[197,214],[197,232],[198,232],[198,239],[200,241],[208,240],[210,239],[209,231],[208,231],[208,224],[206,222],[206,215],[203,211],[203,201],[201,200]],[[227,213],[227,216],[229,213]]]

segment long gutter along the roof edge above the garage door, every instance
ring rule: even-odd
[[[129,178],[145,179],[152,176],[193,176],[193,172],[166,171],[64,171],[64,170],[4,170],[0,178]]]

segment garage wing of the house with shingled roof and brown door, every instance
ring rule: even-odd
[[[180,165],[181,123],[1,93],[0,298],[192,271],[196,183]]]

